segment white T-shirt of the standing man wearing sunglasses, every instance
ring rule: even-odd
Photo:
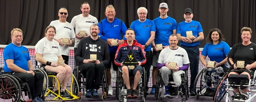
[[[50,25],[56,28],[55,39],[68,38],[70,40],[75,38],[74,28],[69,22],[62,23],[59,20],[55,20]],[[62,55],[69,56],[69,45],[60,45],[59,49]]]

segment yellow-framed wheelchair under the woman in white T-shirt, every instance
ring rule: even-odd
[[[65,101],[72,101],[74,100],[74,102],[77,102],[78,99],[80,99],[79,96],[81,96],[81,94],[79,93],[79,87],[77,86],[78,85],[78,82],[75,78],[75,76],[71,73],[71,83],[70,83],[70,89],[68,90],[68,87],[66,89],[66,91],[73,97],[72,99],[67,99],[67,98],[64,98],[60,95],[60,89],[61,89],[61,85],[58,81],[58,79],[56,78],[56,75],[57,73],[56,72],[47,72],[47,70],[44,68],[44,66],[41,66],[41,65],[37,65],[35,66],[35,70],[41,70],[43,71],[44,75],[45,75],[45,83],[43,85],[43,89],[47,89],[48,92],[46,92],[46,90],[44,91],[44,99],[46,97],[47,94],[49,94],[50,92],[52,94],[54,94],[56,97],[53,98],[53,99],[45,99],[45,101],[62,101],[62,102],[65,102]],[[47,77],[46,77],[47,76]],[[52,81],[53,81],[53,87],[55,86],[54,82],[56,81],[57,84],[58,84],[58,90],[59,90],[59,94],[56,94],[53,92],[53,90],[49,89],[48,88],[48,77],[52,77]]]

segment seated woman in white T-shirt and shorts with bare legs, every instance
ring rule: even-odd
[[[54,26],[46,27],[44,32],[45,37],[39,40],[35,45],[35,58],[38,61],[38,65],[44,66],[49,72],[57,73],[56,78],[59,83],[62,83],[60,95],[65,98],[72,98],[65,90],[69,83],[72,70],[69,65],[63,64],[63,66],[60,66],[57,64],[58,58],[61,60],[63,60],[63,58],[59,49],[59,43],[54,40],[55,33],[56,29]],[[58,95],[59,90],[57,82],[55,82],[53,91]],[[56,97],[53,94],[51,94],[51,96]]]

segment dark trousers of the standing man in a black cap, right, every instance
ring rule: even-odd
[[[189,92],[193,93],[194,90],[194,82],[197,77],[198,73],[198,66],[199,66],[199,45],[194,47],[186,47],[181,46],[183,49],[187,51],[188,59],[189,59],[189,68],[190,68],[190,87]]]

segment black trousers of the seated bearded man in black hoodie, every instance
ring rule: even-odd
[[[94,64],[94,63],[83,63],[79,65],[79,70],[83,74],[83,76],[86,76],[86,82],[87,86],[86,89],[89,88],[100,88],[100,81],[104,74],[104,64]]]

